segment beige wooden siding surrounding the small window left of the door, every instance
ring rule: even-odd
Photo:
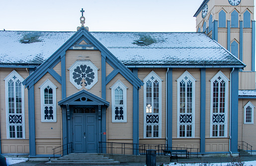
[[[41,122],[41,96],[39,86],[49,79],[56,88],[56,115],[57,122]],[[35,85],[35,139],[36,139],[36,154],[52,154],[48,153],[50,148],[58,147],[61,144],[61,109],[58,101],[62,99],[61,84],[57,82],[49,73],[43,76]],[[51,140],[51,141],[49,141]],[[43,143],[42,143],[43,141]],[[44,153],[42,148],[45,147]],[[48,150],[47,150],[48,147]]]

